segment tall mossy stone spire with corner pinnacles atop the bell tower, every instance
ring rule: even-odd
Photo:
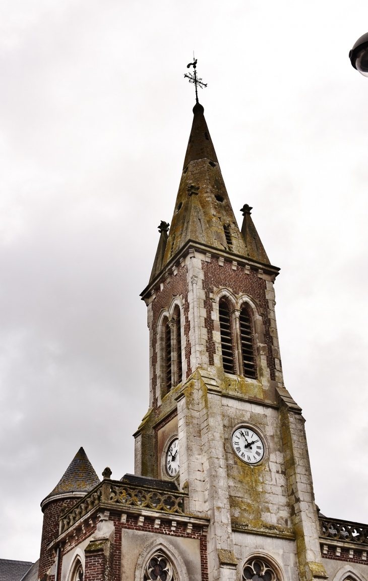
[[[244,214],[239,230],[200,103],[193,107],[192,130],[169,234],[160,232],[150,282],[189,241],[269,264],[250,211]]]

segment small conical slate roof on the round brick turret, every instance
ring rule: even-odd
[[[100,479],[91,462],[88,460],[84,449],[81,447],[55,488],[42,501],[42,505],[45,501],[50,501],[55,496],[84,496],[84,494],[92,490],[99,483]]]

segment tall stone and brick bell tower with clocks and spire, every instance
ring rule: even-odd
[[[141,295],[150,405],[135,473],[175,482],[187,514],[210,519],[210,580],[324,579],[304,419],[283,382],[279,268],[247,204],[237,226],[204,109],[193,113],[171,226],[161,222]]]

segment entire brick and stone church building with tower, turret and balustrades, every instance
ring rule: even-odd
[[[239,229],[198,102],[193,113],[142,292],[150,399],[135,474],[100,480],[78,451],[41,504],[38,581],[368,581],[368,525],[315,505],[283,382],[279,268],[247,204]]]

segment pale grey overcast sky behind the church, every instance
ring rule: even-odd
[[[368,522],[367,0],[0,0],[0,557],[37,560],[39,503],[80,446],[134,470],[146,286],[194,93],[238,221],[272,264],[316,502]]]

